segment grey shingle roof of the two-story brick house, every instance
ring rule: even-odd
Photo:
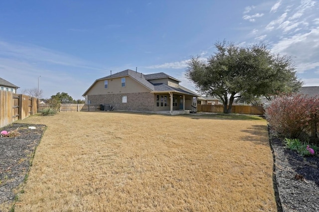
[[[116,74],[112,74],[109,75],[107,77],[102,77],[100,79],[97,79],[91,86],[90,88],[83,94],[83,96],[85,96],[85,94],[91,89],[91,87],[99,80],[108,80],[108,79],[113,79],[113,78],[118,78],[118,77],[126,77],[126,76],[130,76],[131,78],[135,79],[137,82],[141,83],[142,85],[144,85],[146,88],[150,89],[151,92],[179,92],[179,93],[183,93],[183,94],[187,94],[187,95],[192,95],[192,96],[197,96],[199,97],[196,93],[178,85],[178,88],[175,87],[171,87],[171,86],[167,86],[165,84],[152,84],[151,82],[149,82],[148,80],[155,80],[155,79],[163,79],[163,78],[170,78],[173,79],[177,82],[181,82],[179,80],[176,80],[173,77],[170,77],[169,75],[165,74],[165,73],[156,73],[156,74],[148,74],[148,75],[144,75],[140,72],[136,72],[130,69],[118,72]]]

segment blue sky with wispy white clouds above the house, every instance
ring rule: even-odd
[[[126,69],[185,79],[191,56],[216,41],[264,41],[291,56],[304,86],[319,86],[318,0],[2,0],[0,77],[49,98],[73,99]],[[18,90],[18,91],[19,91]]]

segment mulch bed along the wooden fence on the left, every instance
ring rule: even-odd
[[[35,126],[36,129],[29,129]],[[0,137],[0,204],[11,202],[16,189],[27,177],[31,159],[41,140],[45,125],[13,123],[2,127],[0,131],[16,130],[15,137]]]

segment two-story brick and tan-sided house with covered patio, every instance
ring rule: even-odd
[[[144,75],[128,69],[97,79],[82,96],[86,104],[111,105],[115,110],[196,111],[200,96],[180,82],[164,73]]]

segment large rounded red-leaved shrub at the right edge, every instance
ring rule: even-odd
[[[282,95],[265,110],[270,126],[288,138],[304,139],[319,118],[319,98]]]

